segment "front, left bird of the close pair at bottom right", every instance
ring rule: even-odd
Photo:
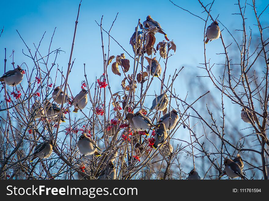
[[[238,165],[238,163],[234,162],[230,158],[226,156],[224,159],[224,165],[225,165],[225,172],[228,177],[230,178],[237,178],[241,177],[242,179],[246,179],[244,176],[241,167]]]

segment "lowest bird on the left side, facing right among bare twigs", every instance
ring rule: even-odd
[[[35,147],[35,151],[33,153],[34,157],[32,160],[35,158],[49,158],[50,154],[52,153],[52,139],[46,140],[43,143],[40,143]]]

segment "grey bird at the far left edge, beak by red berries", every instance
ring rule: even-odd
[[[9,70],[0,77],[0,81],[6,83],[9,86],[16,86],[21,83],[23,74],[25,71],[17,65],[17,69]]]

